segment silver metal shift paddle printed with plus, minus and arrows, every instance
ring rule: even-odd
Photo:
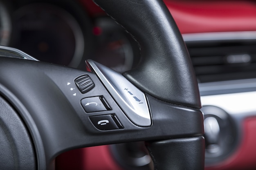
[[[150,126],[151,117],[145,94],[120,73],[92,60],[87,62],[130,121],[137,126]]]

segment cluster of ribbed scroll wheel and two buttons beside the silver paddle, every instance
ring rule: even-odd
[[[94,88],[94,83],[98,83],[95,79],[93,82],[92,78],[89,77],[89,75],[81,75],[74,80],[74,83],[78,87],[77,89],[82,93],[77,96],[82,97],[80,99],[80,104],[85,110],[85,114],[88,115],[89,120],[87,120],[90,121],[95,126],[95,128],[97,128],[97,130],[107,131],[124,129],[121,122],[117,118],[117,115],[119,115],[121,110],[118,110],[115,104],[112,110],[111,106],[113,103],[115,103],[115,101],[112,100],[112,98],[109,96],[109,93],[102,93],[100,90],[90,91],[92,88]],[[70,83],[67,85],[69,84]],[[99,88],[99,86],[97,87]],[[72,90],[74,90],[74,88],[72,88]],[[107,99],[110,100],[110,103],[108,103],[104,96],[108,96]],[[110,113],[110,110],[112,110],[114,113]]]

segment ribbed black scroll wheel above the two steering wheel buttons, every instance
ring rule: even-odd
[[[89,75],[82,75],[75,79],[76,86],[79,88],[81,93],[86,93],[94,87],[94,83]]]

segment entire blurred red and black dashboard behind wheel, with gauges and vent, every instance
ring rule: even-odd
[[[165,0],[198,79],[206,170],[251,170],[256,160],[256,2]],[[92,59],[124,73],[139,44],[91,0],[0,0],[0,45],[86,70]],[[143,142],[59,155],[57,170],[151,170]]]

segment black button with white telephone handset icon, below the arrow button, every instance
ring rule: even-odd
[[[90,120],[92,124],[99,130],[114,130],[119,129],[119,125],[116,124],[113,117],[117,119],[115,114],[112,115],[100,115],[100,116],[90,116]],[[123,128],[121,126],[121,128]]]

